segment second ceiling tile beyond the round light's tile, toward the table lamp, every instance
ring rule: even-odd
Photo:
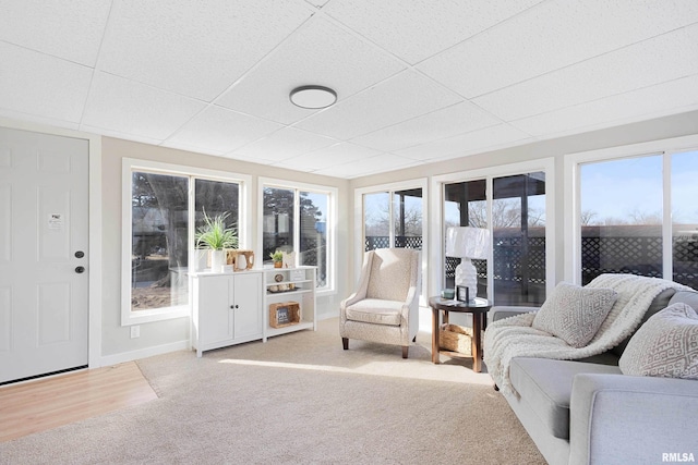
[[[419,144],[440,140],[502,123],[501,120],[474,105],[464,101],[384,127],[352,142],[383,151],[399,150]]]

